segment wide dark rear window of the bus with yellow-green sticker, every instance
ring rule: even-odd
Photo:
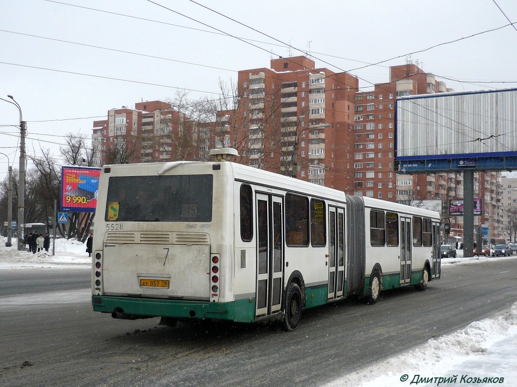
[[[210,222],[212,175],[110,178],[106,221]]]

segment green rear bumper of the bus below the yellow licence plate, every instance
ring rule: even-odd
[[[214,318],[252,322],[255,302],[249,299],[232,302],[184,301],[157,298],[92,296],[95,312],[118,313],[145,317],[174,317],[180,319]]]

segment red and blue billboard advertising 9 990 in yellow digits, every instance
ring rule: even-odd
[[[61,167],[61,211],[95,212],[101,168]]]

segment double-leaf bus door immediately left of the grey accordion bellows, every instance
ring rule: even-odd
[[[345,272],[345,229],[342,208],[328,207],[328,299],[343,296]]]

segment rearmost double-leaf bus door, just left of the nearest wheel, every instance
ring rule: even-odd
[[[282,198],[256,195],[257,277],[256,312],[263,316],[280,311],[283,278]]]

